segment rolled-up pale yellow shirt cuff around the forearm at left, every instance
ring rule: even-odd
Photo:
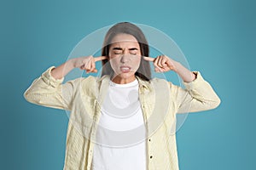
[[[57,86],[59,86],[63,81],[64,81],[64,77],[62,77],[61,79],[55,79],[55,77],[52,77],[50,72],[55,68],[55,66],[50,66],[49,69],[47,69],[46,71],[44,71],[44,73],[42,74],[42,79],[44,80],[45,83],[47,83],[48,85],[56,88]]]

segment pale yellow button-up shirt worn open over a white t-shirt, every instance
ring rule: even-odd
[[[27,101],[71,111],[67,127],[65,170],[90,170],[101,105],[108,91],[109,77],[80,77],[62,83],[50,71],[32,82],[24,97]],[[176,114],[206,111],[220,104],[211,85],[195,71],[193,82],[183,82],[185,89],[163,79],[150,82],[139,77],[139,100],[148,138],[147,169],[178,170]]]

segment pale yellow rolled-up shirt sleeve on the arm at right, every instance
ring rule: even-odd
[[[199,71],[194,71],[196,78],[192,82],[183,82],[185,89],[171,84],[173,98],[177,104],[177,113],[207,111],[220,104],[218,95],[212,86],[204,80]]]

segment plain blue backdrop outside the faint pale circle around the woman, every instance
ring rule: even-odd
[[[84,36],[119,21],[166,32],[222,99],[177,132],[180,169],[255,168],[255,1],[2,0],[0,8],[1,169],[63,167],[65,111],[32,105],[23,93]]]

